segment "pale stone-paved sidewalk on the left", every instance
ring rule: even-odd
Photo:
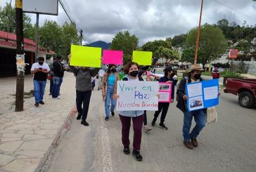
[[[23,112],[14,112],[15,78],[0,79],[0,171],[34,171],[47,152],[56,145],[64,126],[75,116],[75,77],[65,72],[60,88],[61,100],[49,95],[49,81],[44,94],[45,105],[34,107],[34,97],[25,98]],[[25,77],[25,92],[33,89],[32,77]]]

